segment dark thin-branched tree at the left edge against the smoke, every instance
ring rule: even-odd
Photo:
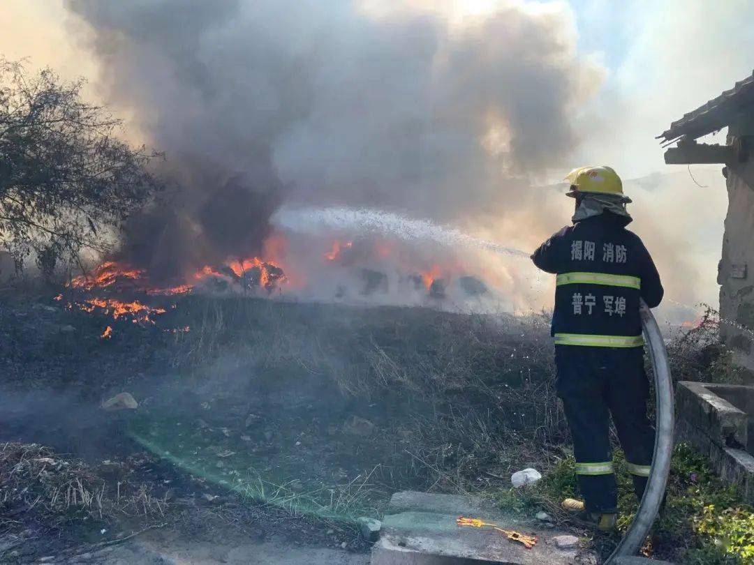
[[[118,139],[121,121],[84,102],[83,84],[0,59],[0,245],[17,269],[106,251],[108,228],[161,188],[146,168],[158,154]]]

